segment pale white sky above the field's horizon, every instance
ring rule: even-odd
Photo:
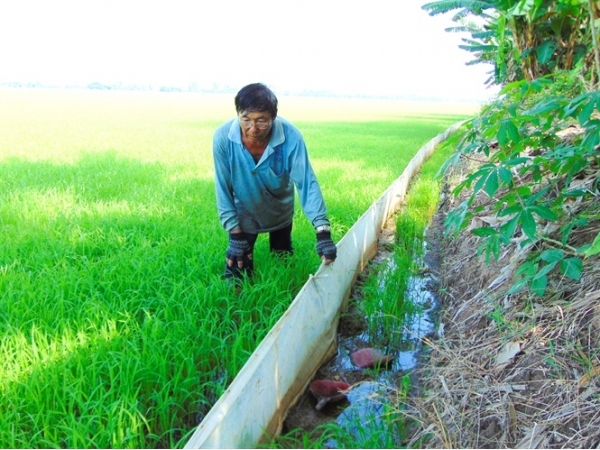
[[[0,83],[489,99],[422,0],[0,0]]]

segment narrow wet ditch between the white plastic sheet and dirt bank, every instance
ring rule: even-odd
[[[318,396],[310,389],[300,398],[286,416],[282,435],[301,443],[301,435],[307,434],[318,441],[325,428],[323,425],[335,422],[354,441],[357,448],[370,448],[383,441],[392,441],[397,445],[403,440],[401,428],[386,427],[382,421],[389,411],[404,408],[399,399],[405,394],[403,390],[413,390],[418,386],[418,379],[413,371],[421,358],[426,356],[423,339],[435,333],[436,315],[439,301],[437,299],[439,268],[439,248],[435,236],[428,231],[419,239],[417,245],[423,247],[422,256],[415,255],[417,270],[408,278],[406,290],[397,291],[399,302],[410,304],[410,312],[398,317],[390,339],[381,331],[369,328],[368,317],[361,308],[364,300],[364,281],[373,273],[380,288],[387,283],[394,283],[390,273],[398,270],[394,260],[396,241],[402,239],[396,235],[396,216],[390,217],[377,241],[377,253],[369,265],[358,276],[354,284],[348,306],[340,316],[338,325],[338,346],[335,356],[321,366],[315,374],[315,380],[336,380],[347,383],[350,387],[345,395],[337,401],[330,401],[319,408]],[[389,333],[390,330],[387,331]],[[386,333],[386,331],[384,331]],[[399,345],[398,345],[399,344]],[[352,355],[364,349],[374,348],[381,352],[389,362],[375,367],[359,367]],[[402,424],[399,425],[403,427]],[[388,436],[373,436],[378,433]],[[286,440],[290,442],[290,440]],[[335,439],[325,440],[327,448],[337,448]]]

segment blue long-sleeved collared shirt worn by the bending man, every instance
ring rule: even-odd
[[[241,228],[256,234],[291,224],[294,185],[312,225],[329,225],[304,139],[287,120],[277,117],[273,122],[269,144],[258,164],[242,143],[237,119],[215,132],[213,157],[217,208],[225,230]]]

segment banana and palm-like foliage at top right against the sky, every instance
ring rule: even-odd
[[[466,32],[460,48],[471,64],[493,64],[488,83],[535,80],[558,70],[578,69],[590,86],[598,83],[598,45],[589,0],[441,0],[422,6],[431,15],[458,11],[448,29]],[[597,15],[597,14],[596,14]],[[476,20],[467,21],[467,18]],[[595,56],[595,58],[594,58]]]

